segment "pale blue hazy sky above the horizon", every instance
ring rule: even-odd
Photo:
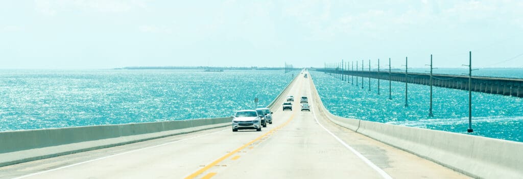
[[[0,0],[0,69],[523,67],[523,1]]]

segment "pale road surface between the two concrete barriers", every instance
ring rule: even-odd
[[[293,110],[284,95],[261,132],[204,130],[5,166],[0,178],[469,178],[331,123],[311,88],[298,77]]]

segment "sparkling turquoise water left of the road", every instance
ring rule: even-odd
[[[295,71],[293,74],[297,74]],[[1,70],[0,131],[230,116],[292,80],[267,70]]]

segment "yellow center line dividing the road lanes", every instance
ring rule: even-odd
[[[299,84],[299,86],[298,86],[298,89],[299,89],[298,91],[301,91],[301,89],[302,89],[302,86],[301,86],[302,82],[303,82],[303,80],[300,80],[300,84]],[[256,139],[254,139],[254,140],[248,142],[247,144],[243,145],[242,147],[237,148],[236,150],[231,151],[231,152],[225,154],[225,156],[219,158],[218,160],[213,161],[212,163],[208,164],[207,166],[204,166],[203,168],[201,168],[200,170],[196,171],[195,173],[192,173],[191,175],[185,177],[185,179],[193,179],[193,178],[195,178],[196,176],[198,176],[198,175],[202,174],[203,172],[205,172],[205,171],[209,170],[210,168],[212,168],[214,165],[217,165],[218,163],[222,162],[223,160],[225,160],[225,159],[231,157],[233,154],[237,153],[238,151],[243,150],[243,149],[246,148],[247,146],[253,144],[254,142],[256,142],[256,141],[258,141],[258,140],[260,140],[261,138],[263,138],[263,137],[265,137],[265,136],[267,136],[267,135],[269,135],[269,134],[274,133],[276,130],[282,128],[283,126],[286,126],[286,125],[289,124],[289,122],[291,122],[291,120],[294,118],[294,114],[296,114],[296,111],[294,111],[294,112],[292,113],[292,115],[289,117],[289,119],[288,119],[285,123],[281,124],[280,126],[274,128],[274,129],[269,130],[269,132],[267,132],[267,133],[265,133],[264,135],[261,135],[261,136],[259,136],[258,138],[256,138]],[[215,174],[217,174],[217,173],[209,173],[209,174],[203,176],[203,178],[207,178],[207,179],[208,179],[208,178],[214,176]]]

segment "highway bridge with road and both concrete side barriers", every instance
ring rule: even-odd
[[[2,132],[0,178],[523,177],[521,142],[338,117],[313,79],[294,78],[261,132],[227,117]],[[311,111],[282,111],[287,95]]]

